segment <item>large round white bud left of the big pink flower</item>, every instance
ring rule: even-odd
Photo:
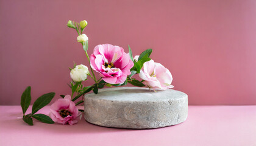
[[[90,74],[90,72],[88,71],[87,66],[80,64],[71,70],[70,77],[74,82],[82,82],[87,78],[88,74]]]

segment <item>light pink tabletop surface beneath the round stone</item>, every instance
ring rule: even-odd
[[[185,122],[153,130],[99,127],[84,119],[73,126],[35,120],[31,127],[17,119],[20,106],[0,106],[0,111],[0,145],[5,146],[256,145],[256,106],[189,106]],[[49,113],[49,107],[40,112]]]

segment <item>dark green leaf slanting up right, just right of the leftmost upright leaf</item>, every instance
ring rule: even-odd
[[[54,96],[55,92],[49,92],[47,94],[43,94],[43,96],[38,97],[38,99],[35,100],[34,105],[32,106],[32,114],[37,113],[39,109],[48,105],[48,103],[51,102]]]

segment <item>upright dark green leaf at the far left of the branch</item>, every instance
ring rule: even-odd
[[[23,111],[23,115],[26,113],[27,108],[29,108],[30,101],[31,101],[31,87],[28,86],[23,94],[21,95],[21,108]]]

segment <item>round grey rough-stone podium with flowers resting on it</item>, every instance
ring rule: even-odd
[[[184,122],[188,115],[187,94],[168,89],[118,87],[84,97],[85,120],[116,128],[158,128]]]

